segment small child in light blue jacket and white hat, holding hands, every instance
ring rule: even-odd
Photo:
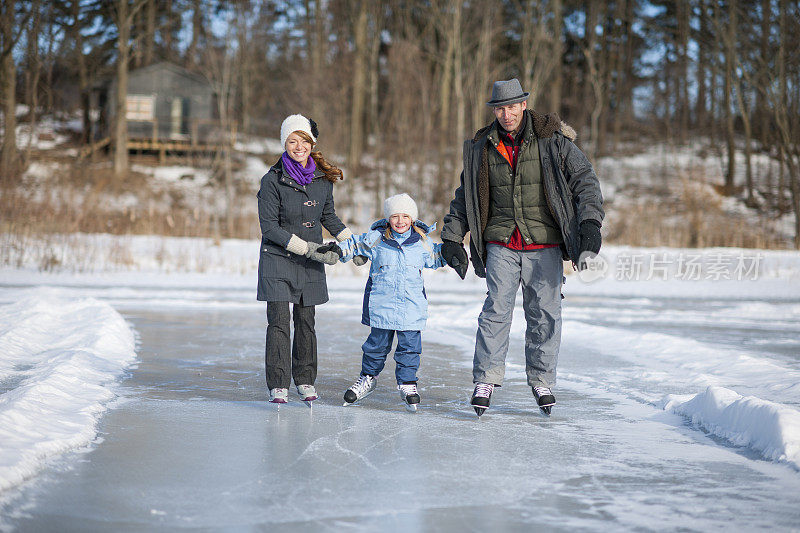
[[[367,233],[340,242],[341,261],[363,256],[372,261],[364,289],[361,323],[370,334],[361,347],[361,375],[344,393],[344,405],[364,398],[375,390],[378,374],[397,334],[394,359],[400,397],[410,411],[420,402],[417,370],[422,352],[422,328],[428,316],[428,301],[422,283],[423,268],[439,268],[439,243],[428,239],[434,226],[417,220],[417,204],[407,194],[387,198],[384,219],[372,224]]]

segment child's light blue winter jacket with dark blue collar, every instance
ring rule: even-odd
[[[416,221],[414,225],[428,235],[436,224]],[[392,239],[386,238],[389,222],[378,220],[369,231],[339,243],[342,262],[363,255],[372,262],[364,289],[361,323],[373,328],[398,331],[422,330],[428,318],[428,297],[422,283],[423,268],[445,266],[441,243],[422,239],[409,229]]]

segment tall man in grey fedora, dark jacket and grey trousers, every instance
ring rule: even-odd
[[[592,165],[572,143],[574,130],[555,114],[527,109],[528,96],[517,79],[495,82],[487,104],[496,120],[464,143],[461,185],[442,228],[447,263],[464,278],[462,242],[469,231],[473,268],[486,278],[473,360],[478,416],[503,383],[520,284],[527,381],[540,409],[550,413],[561,344],[562,260],[580,267],[582,254],[600,251],[603,199]]]

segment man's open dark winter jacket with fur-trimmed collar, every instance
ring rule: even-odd
[[[575,131],[558,115],[540,115],[528,110],[533,128],[523,141],[537,141],[542,168],[542,183],[550,212],[561,231],[564,259],[578,263],[580,223],[603,222],[603,196],[591,163],[573,144]],[[495,121],[496,122],[496,121]],[[478,130],[464,142],[464,170],[461,185],[444,217],[442,239],[461,242],[470,233],[470,256],[475,273],[486,276],[486,244],[483,231],[489,218],[489,131],[495,124]],[[534,137],[535,136],[535,137]]]

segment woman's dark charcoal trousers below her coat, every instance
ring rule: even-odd
[[[294,339],[289,350],[289,302],[267,302],[267,387],[313,385],[317,379],[314,306],[294,304]]]

